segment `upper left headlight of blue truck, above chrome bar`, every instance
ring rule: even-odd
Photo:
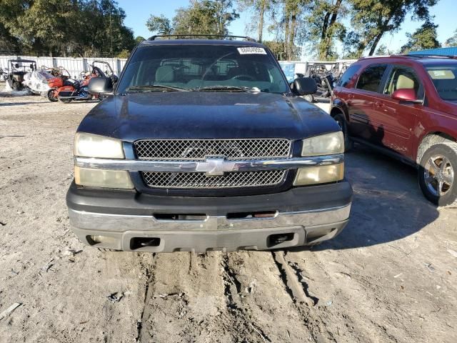
[[[119,139],[78,132],[74,137],[74,156],[101,159],[124,159],[122,141]]]

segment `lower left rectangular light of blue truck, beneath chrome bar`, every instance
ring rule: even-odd
[[[129,172],[74,167],[74,182],[81,186],[134,189]]]

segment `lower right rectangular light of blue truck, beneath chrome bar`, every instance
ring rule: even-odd
[[[298,169],[293,186],[326,184],[341,181],[344,178],[344,163],[328,166],[305,166]]]

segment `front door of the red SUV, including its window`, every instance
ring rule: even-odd
[[[398,101],[391,95],[398,89],[413,89],[417,99],[423,101],[423,85],[411,66],[393,64],[389,67],[382,94],[373,102],[371,119],[378,132],[382,132],[379,144],[398,154],[414,159],[412,129],[416,127],[418,116],[423,111],[423,104]]]

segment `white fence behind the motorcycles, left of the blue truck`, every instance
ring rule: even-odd
[[[121,74],[124,64],[126,64],[126,59],[106,59],[101,57],[89,57],[89,58],[73,58],[73,57],[46,57],[46,56],[1,56],[0,55],[0,68],[4,71],[9,71],[11,66],[8,61],[10,59],[33,59],[36,61],[36,66],[40,68],[41,66],[47,67],[59,67],[62,66],[69,71],[71,77],[78,77],[81,74],[81,71],[89,71],[89,64],[92,64],[93,61],[105,61],[111,65],[113,68],[114,74]],[[104,69],[103,69],[104,70]]]

